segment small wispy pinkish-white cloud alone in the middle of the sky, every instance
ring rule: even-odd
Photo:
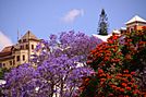
[[[63,22],[65,23],[72,23],[75,21],[76,17],[78,16],[83,16],[84,15],[84,10],[77,10],[77,9],[73,9],[71,11],[69,11],[64,17],[62,17]]]

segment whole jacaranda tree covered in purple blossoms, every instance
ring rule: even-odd
[[[12,69],[5,75],[3,92],[10,97],[73,97],[85,76],[93,70],[86,65],[87,54],[101,40],[73,31],[58,38],[41,40],[31,63]]]

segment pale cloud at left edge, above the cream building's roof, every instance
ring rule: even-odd
[[[11,46],[13,45],[12,44],[12,40],[5,36],[2,32],[0,32],[0,51],[7,47],[7,46]]]

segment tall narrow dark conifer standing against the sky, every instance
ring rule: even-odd
[[[108,35],[108,17],[104,9],[101,10],[97,31],[99,32],[98,35]]]

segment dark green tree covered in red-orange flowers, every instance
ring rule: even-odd
[[[134,97],[146,88],[146,31],[113,34],[92,50],[87,64],[95,73],[81,86],[81,97]]]

